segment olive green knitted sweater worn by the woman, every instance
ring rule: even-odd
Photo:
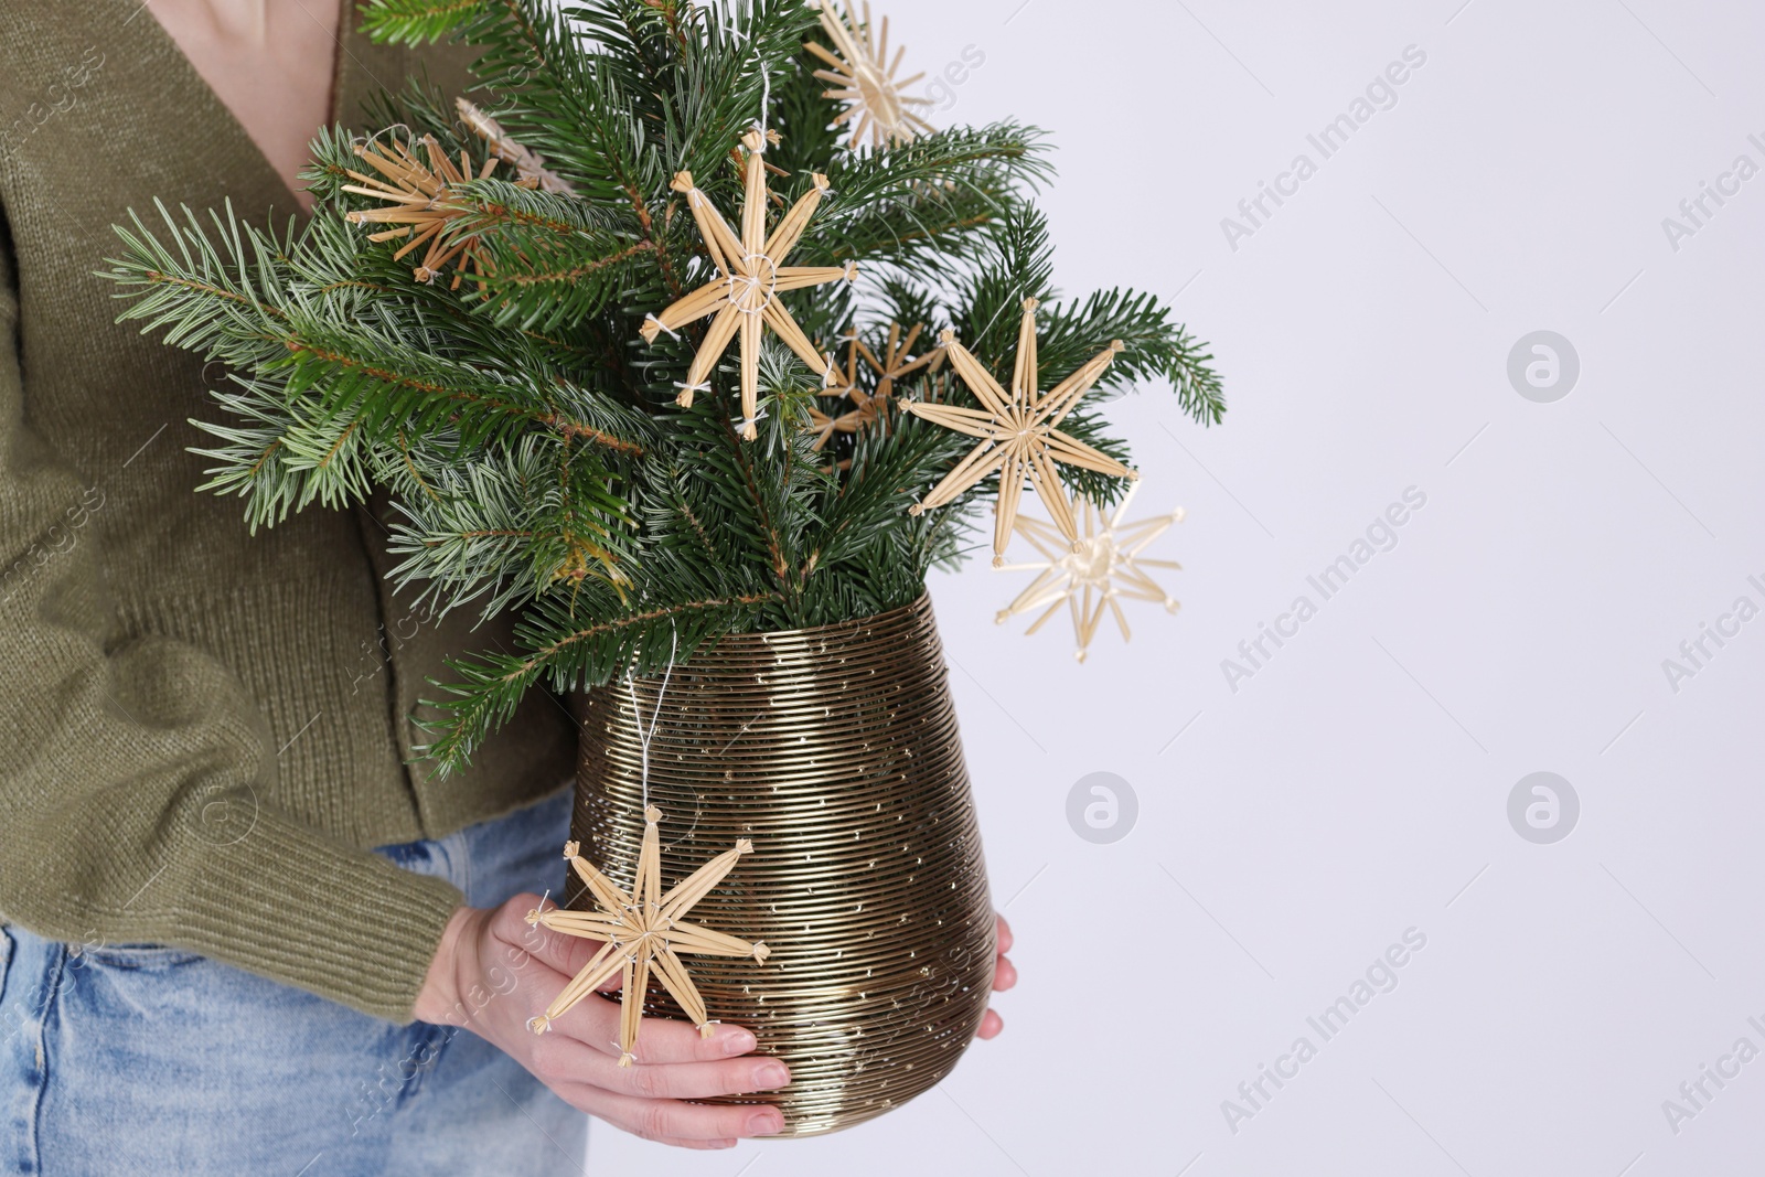
[[[417,65],[346,34],[337,120]],[[464,85],[457,55],[427,71]],[[535,692],[471,771],[431,778],[425,678],[508,626],[392,593],[383,510],[252,536],[238,499],[196,492],[189,418],[221,416],[224,372],[115,325],[95,275],[154,198],[297,210],[139,0],[0,0],[0,918],[409,1020],[461,895],[367,847],[552,792],[575,729]]]

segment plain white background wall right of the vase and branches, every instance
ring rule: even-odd
[[[852,1131],[688,1156],[597,1124],[591,1172],[1758,1172],[1765,1059],[1677,1133],[1663,1101],[1765,1048],[1765,619],[1677,693],[1661,663],[1765,605],[1765,176],[1677,252],[1661,221],[1765,164],[1765,12],[1461,4],[884,5],[907,72],[985,55],[935,122],[1055,136],[1064,289],[1156,291],[1214,346],[1221,427],[1115,404],[1137,512],[1190,510],[1154,552],[1183,611],[1080,667],[1063,621],[992,623],[1022,577],[937,579],[1006,1034]],[[1405,46],[1398,104],[1322,161],[1306,134]],[[1232,251],[1221,217],[1299,152],[1318,173]],[[1506,374],[1539,328],[1581,360],[1555,404]],[[1412,485],[1398,547],[1234,693],[1221,660]],[[1507,821],[1541,769],[1581,801],[1555,845]],[[1093,771],[1138,794],[1114,845],[1066,822]],[[1407,928],[1400,985],[1324,1043],[1306,1016]],[[1301,1034],[1234,1133],[1221,1101]]]

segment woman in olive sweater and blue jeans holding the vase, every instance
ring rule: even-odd
[[[129,210],[305,210],[325,122],[457,51],[328,0],[0,0],[0,1158],[19,1172],[581,1172],[590,1112],[685,1147],[780,1128],[784,1066],[616,1008],[526,1031],[590,953],[563,886],[575,729],[533,693],[436,780],[408,716],[508,642],[394,593],[383,505],[249,535],[194,494],[187,353],[113,325]],[[1001,925],[1001,944],[1010,937]],[[999,985],[1013,971],[1001,960]],[[981,1038],[999,1031],[988,1013]],[[305,1166],[305,1168],[304,1168]]]

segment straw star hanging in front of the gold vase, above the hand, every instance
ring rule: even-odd
[[[545,925],[552,932],[577,935],[590,941],[604,941],[581,972],[558,993],[558,999],[545,1008],[545,1013],[533,1018],[530,1027],[535,1034],[544,1034],[551,1023],[574,1009],[584,997],[593,993],[602,983],[623,972],[620,997],[620,1066],[630,1066],[637,1055],[637,1029],[644,1016],[644,992],[650,988],[650,974],[662,979],[662,986],[680,1002],[699,1034],[711,1036],[711,1018],[704,1009],[704,999],[692,983],[680,953],[697,953],[704,956],[752,956],[766,960],[764,944],[748,944],[722,932],[711,932],[699,925],[687,923],[683,916],[692,905],[704,898],[711,888],[724,881],[736,859],[754,849],[747,838],[736,842],[732,851],[724,851],[699,870],[692,872],[674,889],[662,891],[662,845],[657,835],[657,822],[662,810],[650,806],[644,810],[644,840],[637,851],[637,882],[625,893],[612,879],[600,873],[593,863],[582,858],[575,842],[565,845],[563,854],[577,877],[588,886],[590,895],[600,911],[531,911],[530,925]]]

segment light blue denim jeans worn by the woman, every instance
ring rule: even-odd
[[[475,907],[563,886],[570,792],[378,852]],[[469,1031],[392,1025],[173,948],[0,925],[0,1172],[581,1173],[588,1117]]]

